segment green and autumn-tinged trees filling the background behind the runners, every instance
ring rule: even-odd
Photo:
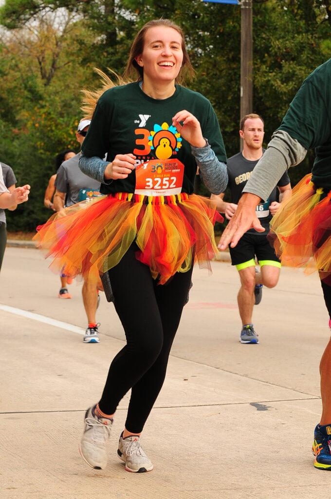
[[[202,0],[6,0],[0,7],[0,160],[28,203],[7,215],[9,229],[33,230],[50,215],[44,190],[55,155],[78,150],[80,89],[95,88],[97,66],[122,73],[138,29],[168,17],[185,33],[196,70],[189,84],[209,98],[227,155],[239,150],[240,7]],[[331,53],[331,0],[255,0],[254,109],[265,119],[265,144],[303,79]],[[290,170],[292,184],[310,171],[314,153]],[[208,195],[197,183],[196,190]]]

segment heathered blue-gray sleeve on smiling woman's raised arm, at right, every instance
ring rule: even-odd
[[[225,191],[228,176],[226,164],[219,161],[208,144],[204,147],[192,147],[191,151],[199,167],[202,181],[212,194],[221,194]]]

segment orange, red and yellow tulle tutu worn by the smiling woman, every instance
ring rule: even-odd
[[[119,193],[78,203],[37,227],[34,241],[56,273],[99,281],[136,243],[137,258],[164,284],[194,262],[218,255],[213,226],[223,218],[207,198],[194,194],[146,197]],[[62,216],[61,216],[62,215]]]

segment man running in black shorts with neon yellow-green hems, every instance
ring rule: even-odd
[[[257,114],[248,114],[240,122],[240,137],[243,139],[243,150],[228,159],[228,188],[231,192],[231,203],[224,201],[224,193],[211,198],[217,203],[217,210],[225,213],[230,220],[235,213],[242,190],[250,178],[254,167],[264,153],[262,142],[264,137],[264,122]],[[256,215],[261,225],[266,229],[259,233],[254,229],[248,230],[240,239],[235,248],[230,248],[232,265],[239,271],[241,287],[238,292],[239,314],[242,320],[240,334],[241,343],[259,343],[258,334],[252,323],[254,303],[258,304],[262,297],[263,285],[276,286],[281,268],[280,260],[270,246],[267,235],[269,222],[278,211],[280,204],[291,196],[290,179],[285,172],[268,199],[261,202],[256,208]],[[255,257],[260,264],[260,272],[255,267]]]

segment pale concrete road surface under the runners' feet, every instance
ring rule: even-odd
[[[1,498],[325,494],[328,475],[314,469],[310,451],[321,412],[319,361],[330,336],[319,279],[283,268],[254,309],[260,344],[241,345],[237,272],[226,262],[212,266],[210,276],[194,269],[165,386],[143,434],[155,470],[137,476],[116,458],[128,396],[117,412],[107,469],[89,469],[77,453],[84,410],[100,397],[124,341],[113,304],[101,296],[101,341],[83,344],[81,283],[71,284],[72,299],[59,299],[59,278],[39,251],[6,249]]]

